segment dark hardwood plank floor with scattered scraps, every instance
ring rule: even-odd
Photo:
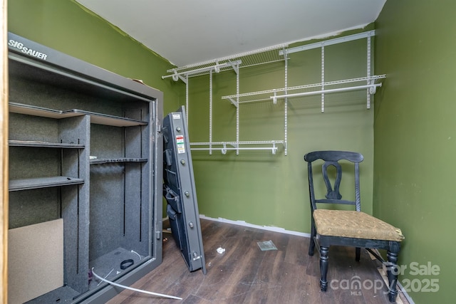
[[[171,234],[164,234],[162,264],[132,285],[182,300],[124,290],[108,303],[389,303],[380,263],[364,249],[356,262],[354,248],[330,248],[331,285],[322,293],[309,239],[203,219],[201,225],[206,275],[188,271]],[[257,242],[269,240],[277,250],[261,251]],[[219,247],[226,251],[217,253]],[[397,303],[408,302],[400,295]]]

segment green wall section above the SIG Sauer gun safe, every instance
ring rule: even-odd
[[[8,31],[164,93],[165,112],[178,107],[182,84],[161,79],[172,65],[73,0],[10,0]]]

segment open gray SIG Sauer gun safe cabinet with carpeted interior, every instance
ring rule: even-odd
[[[130,285],[162,261],[162,93],[12,33],[8,44],[9,303],[103,303],[122,289],[95,275]]]

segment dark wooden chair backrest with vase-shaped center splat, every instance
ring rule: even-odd
[[[324,199],[315,198],[314,189],[314,174],[312,172],[312,163],[317,159],[323,160],[322,173],[323,179],[326,184],[326,195]],[[309,152],[304,155],[304,160],[307,162],[307,170],[309,173],[309,194],[311,199],[312,212],[316,209],[316,204],[327,203],[327,204],[350,204],[356,206],[356,211],[361,211],[361,196],[359,188],[359,163],[364,159],[363,154],[357,152],[347,151],[315,151]],[[342,199],[342,195],[339,192],[342,179],[342,167],[339,161],[346,160],[353,163],[354,165],[354,177],[355,177],[355,200],[350,201]],[[328,167],[336,168],[336,179],[334,184],[331,184],[331,180],[328,177]]]

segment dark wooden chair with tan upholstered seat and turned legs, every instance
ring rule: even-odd
[[[304,155],[304,160],[308,162],[311,201],[309,256],[314,255],[314,248],[317,244],[320,251],[320,286],[322,291],[326,291],[328,288],[326,274],[328,272],[329,247],[331,245],[355,247],[356,261],[360,260],[361,248],[366,248],[375,258],[378,258],[387,266],[388,300],[394,303],[398,294],[396,288],[398,281],[398,253],[400,251],[400,241],[403,241],[404,236],[400,229],[361,211],[359,163],[363,161],[363,158],[363,154],[345,151],[316,151]],[[316,199],[315,197],[316,191],[314,189],[314,174],[312,171],[312,164],[318,159],[323,160],[322,177],[327,190],[325,197],[321,199]],[[339,192],[342,167],[348,165],[354,167],[354,201],[342,199],[342,195]],[[333,167],[331,168],[332,171],[328,172],[328,167],[331,166]],[[331,180],[333,184],[331,184]],[[356,210],[317,209],[317,204],[348,204],[355,206]],[[385,249],[388,261],[383,261],[377,252],[372,250],[373,248]]]

